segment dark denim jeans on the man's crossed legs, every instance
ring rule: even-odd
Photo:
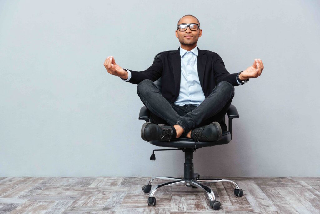
[[[218,123],[224,121],[235,95],[235,88],[227,81],[219,82],[198,107],[195,105],[179,106],[171,103],[162,96],[155,83],[148,79],[138,84],[137,93],[142,103],[151,112],[152,120],[150,118],[150,122],[171,126],[178,124],[187,133],[194,128],[208,125],[214,121]]]

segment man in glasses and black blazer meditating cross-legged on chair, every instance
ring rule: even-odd
[[[220,123],[231,105],[234,86],[261,75],[264,68],[261,59],[255,59],[242,72],[230,74],[219,54],[196,46],[201,35],[199,20],[188,14],[178,21],[178,50],[162,52],[147,70],[123,69],[113,56],[105,60],[108,73],[138,84],[137,93],[150,110],[153,122],[143,124],[143,140],[170,141],[179,137],[195,142],[220,140]],[[162,92],[154,83],[160,77]]]

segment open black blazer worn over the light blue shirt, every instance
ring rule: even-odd
[[[233,86],[239,85],[236,81],[238,73],[230,74],[217,53],[208,50],[200,50],[198,48],[197,67],[201,88],[204,91],[205,97],[208,97],[214,87],[221,81],[228,81]],[[140,72],[130,70],[130,72],[131,78],[128,82],[133,84],[139,84],[145,79],[156,81],[162,77],[162,96],[174,103],[178,98],[180,91],[180,47],[173,52],[164,51],[159,53],[153,64],[147,70]]]

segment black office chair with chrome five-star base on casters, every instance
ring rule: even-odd
[[[169,51],[169,52],[174,52],[175,50]],[[158,53],[156,57],[158,57],[162,52]],[[154,81],[156,84],[157,88],[161,91],[161,77]],[[202,148],[202,147],[208,147],[208,146],[215,146],[215,145],[223,145],[227,144],[231,141],[232,139],[232,119],[234,118],[239,118],[238,111],[234,105],[230,105],[228,112],[227,112],[228,118],[229,118],[229,127],[228,130],[222,130],[222,138],[219,141],[200,141],[195,143],[193,139],[190,138],[176,138],[176,139],[171,139],[171,141],[148,141],[150,144],[155,145],[155,146],[161,146],[161,147],[170,147],[170,148],[177,148],[177,149],[168,149],[168,150],[182,150],[185,153],[185,163],[184,163],[184,177],[166,177],[166,176],[161,176],[161,177],[154,177],[149,180],[149,183],[147,185],[144,185],[142,187],[142,190],[144,193],[149,193],[149,198],[148,198],[148,205],[156,205],[156,198],[153,197],[153,195],[156,193],[156,191],[163,186],[177,186],[177,185],[186,185],[188,187],[192,188],[201,188],[203,189],[207,194],[210,199],[210,206],[214,210],[220,209],[221,203],[219,201],[215,200],[214,193],[212,189],[208,186],[206,186],[204,183],[216,183],[216,182],[230,182],[236,186],[234,190],[234,194],[236,196],[243,196],[243,190],[239,188],[239,186],[230,180],[227,179],[220,179],[220,178],[200,178],[200,175],[198,173],[194,173],[194,168],[193,168],[193,152],[196,151],[196,149]],[[153,122],[152,121],[152,116],[150,118],[150,111],[148,110],[147,107],[143,106],[140,109],[139,113],[139,120],[145,120],[146,122]],[[225,118],[223,119],[223,122],[225,122]],[[163,151],[163,150],[153,150],[153,153],[150,157],[150,160],[156,160],[156,156],[154,154],[155,151]],[[155,179],[163,179],[163,180],[168,180],[170,182],[163,183],[157,186],[154,186],[153,188],[151,185],[151,182]]]

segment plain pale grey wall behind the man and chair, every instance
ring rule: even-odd
[[[109,74],[144,71],[180,46],[193,14],[197,46],[229,73],[261,58],[236,86],[233,139],[194,153],[203,176],[320,176],[319,1],[0,1],[0,176],[183,175],[184,153],[143,141],[137,85]]]

